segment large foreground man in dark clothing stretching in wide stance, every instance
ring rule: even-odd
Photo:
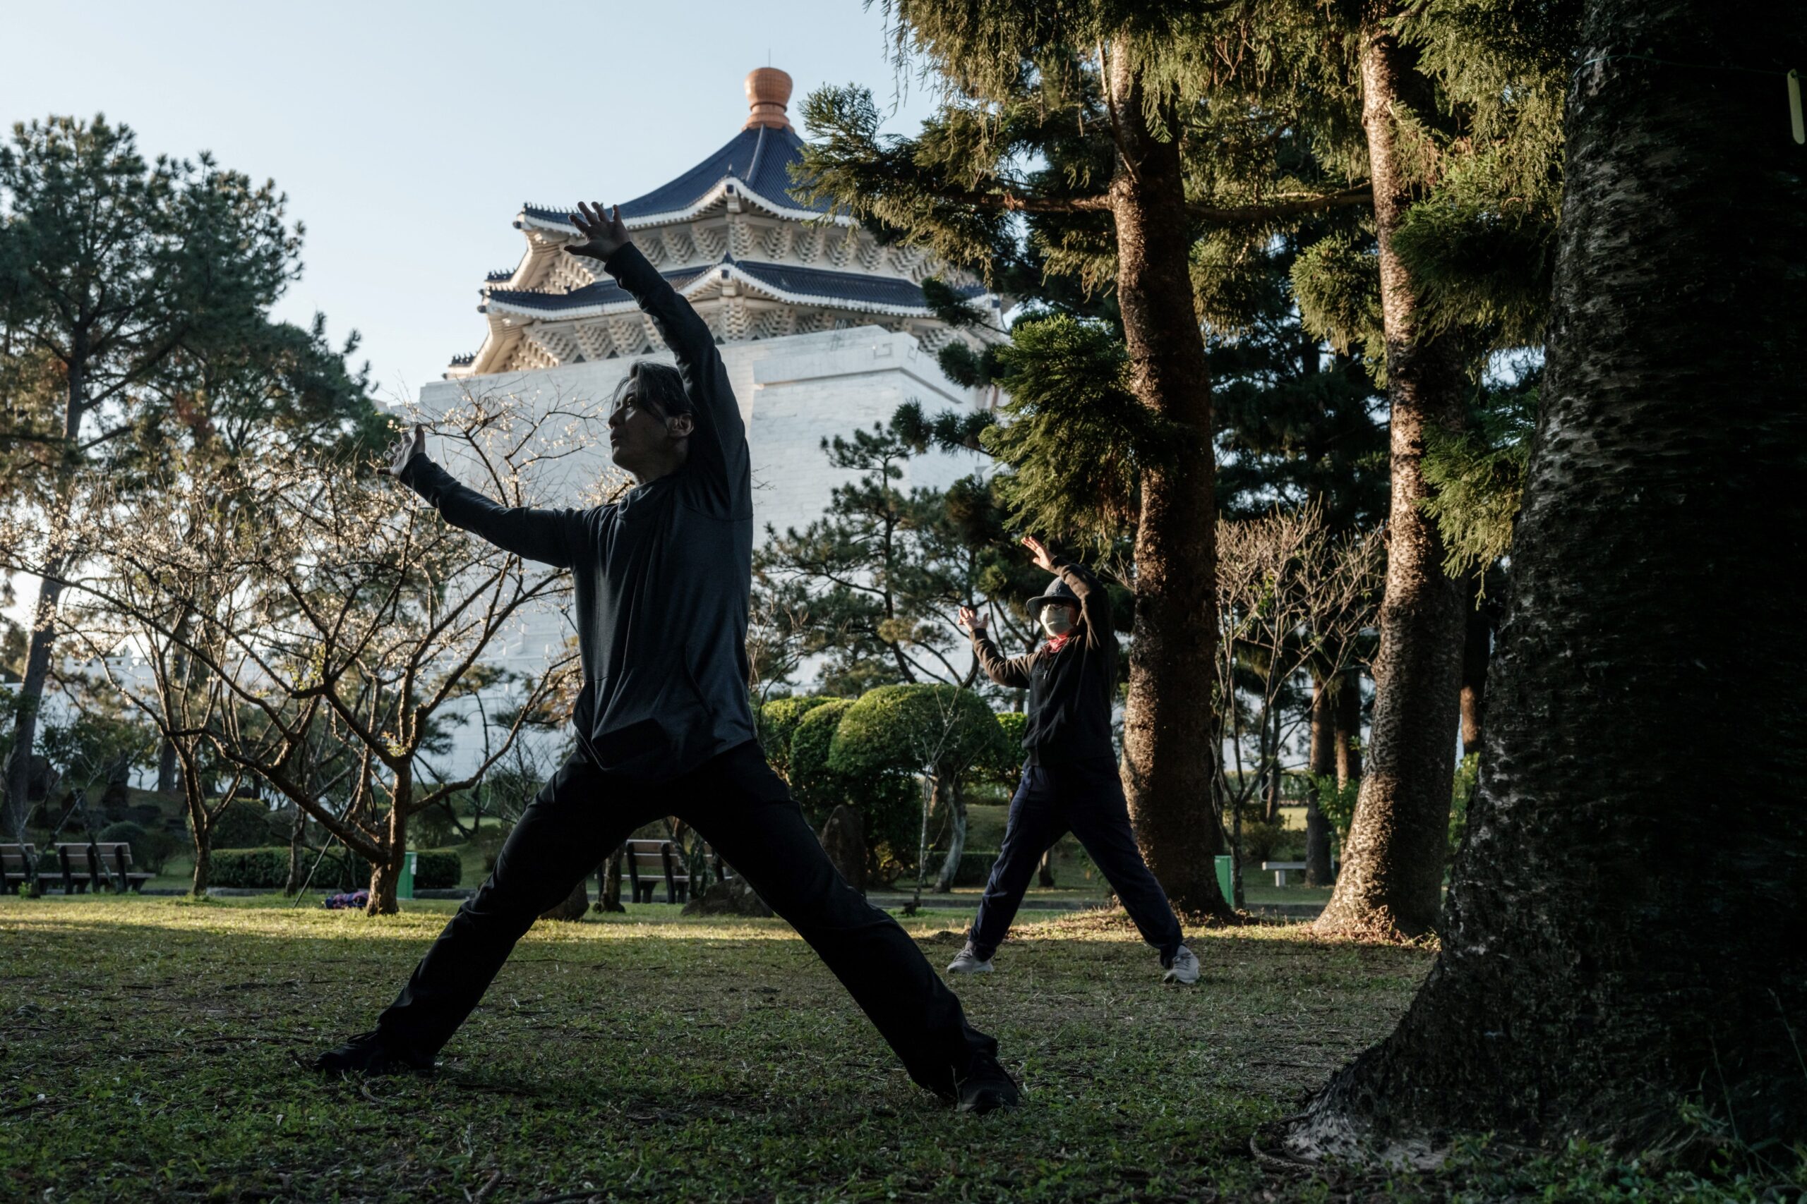
[[[636,363],[616,392],[609,446],[638,484],[587,511],[497,505],[426,458],[419,426],[389,468],[452,525],[571,570],[584,664],[576,751],[376,1031],[316,1065],[430,1067],[540,912],[634,829],[676,814],[828,962],[916,1083],[969,1112],[1016,1105],[997,1043],[967,1023],[896,921],[835,872],[754,742],[754,496],[741,410],[708,327],[634,249],[620,211],[578,208],[571,220],[585,242],[567,249],[602,260],[678,359]]]

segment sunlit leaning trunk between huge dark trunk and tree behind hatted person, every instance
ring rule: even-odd
[[[1388,5],[1375,16],[1390,14]],[[1422,460],[1433,428],[1453,431],[1462,422],[1464,374],[1453,339],[1424,330],[1418,282],[1393,249],[1409,208],[1395,108],[1406,107],[1417,81],[1382,20],[1364,31],[1361,70],[1381,244],[1391,500],[1368,774],[1317,931],[1418,937],[1442,910],[1462,681],[1462,592],[1444,572],[1437,523],[1420,505],[1429,496]]]

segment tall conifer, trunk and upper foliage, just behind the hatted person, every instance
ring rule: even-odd
[[[1294,215],[1364,202],[1362,188],[1308,157],[1299,175],[1278,150],[1317,92],[1250,105],[1249,79],[1310,74],[1317,43],[1297,36],[1294,54],[1256,56],[1245,52],[1258,32],[1252,9],[1182,4],[898,0],[891,11],[900,45],[947,81],[947,99],[918,137],[880,141],[869,94],[817,92],[806,190],[994,282],[1032,258],[1030,247],[1064,287],[1109,291],[1124,392],[1187,457],[1137,466],[1124,783],[1144,854],[1175,904],[1222,913],[1212,872],[1222,839],[1207,801],[1214,758],[1196,738],[1214,727],[1200,682],[1214,666],[1216,505],[1193,244],[1202,222],[1236,227],[1231,242],[1247,242]],[[1308,25],[1259,34],[1270,45]],[[1205,144],[1220,153],[1191,153]]]

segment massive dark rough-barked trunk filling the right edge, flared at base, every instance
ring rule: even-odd
[[[1543,408],[1442,953],[1296,1146],[1646,1146],[1708,1132],[1684,1101],[1746,1143],[1807,1132],[1807,644],[1776,578],[1807,527],[1803,153],[1780,74],[1673,65],[1807,61],[1807,27],[1756,14],[1585,7]]]

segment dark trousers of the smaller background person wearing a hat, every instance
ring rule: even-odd
[[[1167,892],[1142,861],[1122,778],[1109,758],[1023,769],[1005,821],[1005,847],[997,852],[979,913],[967,933],[972,951],[981,960],[997,951],[1041,856],[1068,830],[1086,847],[1142,939],[1160,949],[1160,964],[1171,966],[1173,951],[1184,942],[1180,921],[1167,906]]]

